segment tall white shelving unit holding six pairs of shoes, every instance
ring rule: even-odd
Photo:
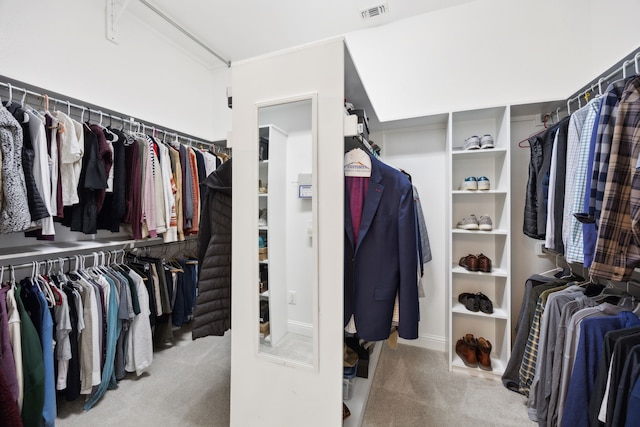
[[[510,119],[508,107],[453,112],[448,123],[449,209],[449,370],[499,379],[511,351],[511,205],[510,205]],[[494,148],[462,149],[472,136],[489,134]],[[489,190],[460,190],[469,176],[489,178]],[[475,214],[489,215],[491,231],[461,230],[458,221]],[[467,271],[459,265],[462,257],[484,254],[492,262],[491,272]],[[493,313],[472,312],[458,302],[463,292],[482,292],[493,303]],[[492,344],[492,371],[465,366],[455,352],[456,342],[465,334],[484,337]]]

